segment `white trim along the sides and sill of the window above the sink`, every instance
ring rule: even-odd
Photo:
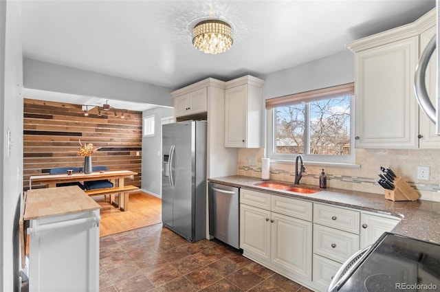
[[[360,166],[355,164],[355,147],[354,147],[354,136],[355,136],[355,124],[354,124],[354,103],[355,97],[351,95],[350,98],[350,155],[307,155],[301,154],[305,161],[305,164],[309,165],[319,165],[319,166],[336,166],[336,167],[347,167],[347,168],[359,168]],[[266,110],[266,144],[267,144],[267,157],[272,161],[292,163],[296,159],[296,154],[276,154],[274,145],[274,111],[276,108]],[[307,115],[307,113],[306,113]],[[308,135],[308,133],[305,133]]]

